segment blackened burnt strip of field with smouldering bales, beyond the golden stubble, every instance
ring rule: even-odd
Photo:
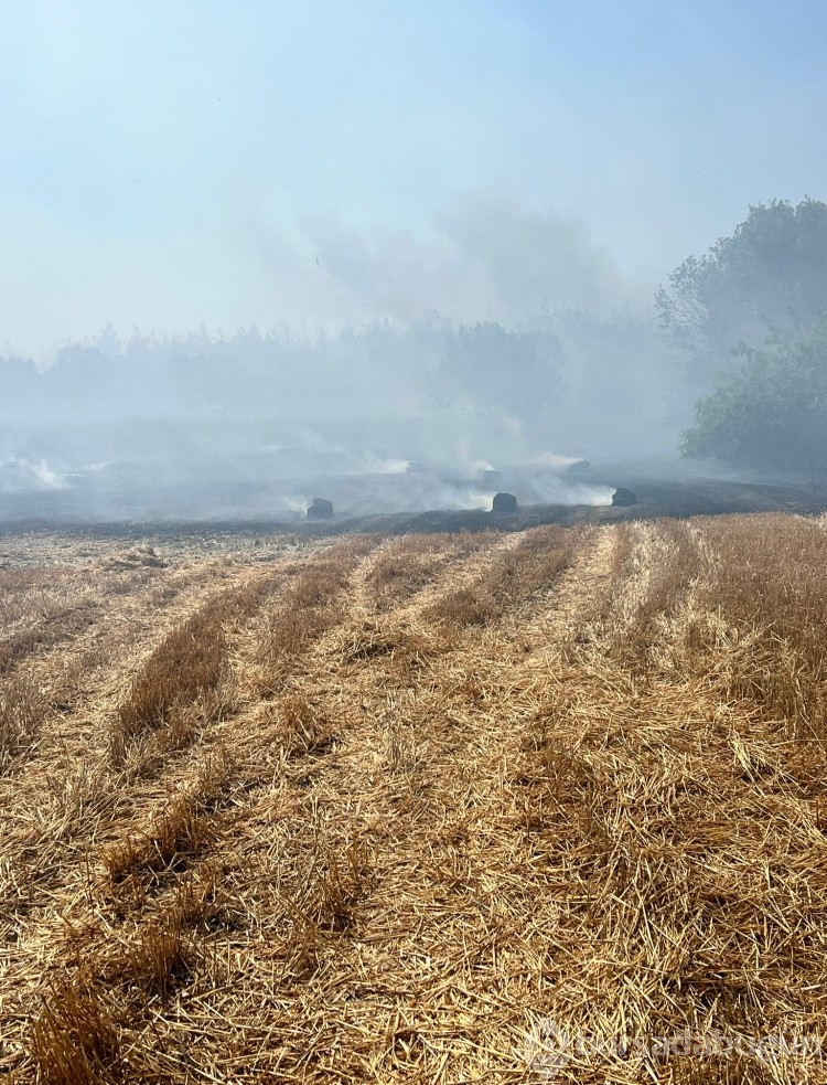
[[[382,479],[382,477],[376,477]],[[401,476],[402,482],[406,476]],[[407,477],[410,479],[410,476]],[[414,481],[417,477],[414,476]],[[343,482],[346,485],[343,489]],[[572,479],[574,486],[599,488],[611,494],[617,487],[631,488],[637,502],[631,507],[578,504],[571,498],[566,503],[552,503],[538,499],[537,479],[530,476],[506,476],[505,483],[518,498],[517,513],[495,515],[483,508],[439,508],[428,504],[428,497],[436,491],[428,480],[423,493],[410,491],[397,480],[382,479],[384,493],[372,490],[369,479],[320,478],[303,485],[310,492],[318,487],[332,493],[335,515],[330,520],[308,520],[303,512],[284,515],[283,487],[276,483],[225,483],[223,486],[198,483],[178,487],[118,491],[111,496],[90,500],[88,493],[73,490],[53,490],[0,494],[0,542],[12,542],[21,536],[36,544],[39,538],[66,536],[66,545],[78,539],[90,544],[109,542],[146,541],[162,542],[173,550],[195,546],[218,546],[234,550],[237,545],[254,543],[273,532],[296,540],[330,538],[352,532],[377,532],[401,535],[419,532],[525,531],[543,524],[563,526],[578,523],[614,523],[623,520],[656,520],[662,517],[687,518],[719,515],[735,512],[791,512],[805,515],[827,509],[827,485],[790,480],[775,483],[764,480],[734,481],[718,478],[664,477],[658,474],[638,474],[627,470],[593,471]],[[558,479],[559,485],[559,479]],[[461,489],[480,483],[465,482]],[[340,492],[340,490],[343,490]],[[388,508],[390,502],[398,511]],[[576,493],[576,491],[572,491]],[[475,494],[484,498],[482,493]],[[378,500],[377,500],[378,497]],[[491,498],[487,494],[487,508]],[[340,501],[344,498],[344,501]],[[384,500],[383,500],[384,498]],[[406,504],[411,498],[425,498],[425,504]],[[606,497],[608,501],[608,497]],[[310,504],[305,500],[302,509]],[[8,561],[0,547],[0,562]]]

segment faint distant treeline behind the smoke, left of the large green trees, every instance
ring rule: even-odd
[[[0,417],[111,422],[223,412],[311,422],[451,405],[540,432],[561,409],[637,411],[658,372],[663,347],[652,325],[627,313],[604,320],[563,312],[530,331],[493,321],[453,327],[433,317],[312,340],[255,327],[121,340],[109,327],[63,347],[47,366],[0,359]],[[665,402],[662,395],[653,416]]]

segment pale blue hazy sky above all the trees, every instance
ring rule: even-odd
[[[827,199],[825,55],[824,0],[3,0],[0,352],[646,298]]]

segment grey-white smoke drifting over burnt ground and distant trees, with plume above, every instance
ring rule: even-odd
[[[490,509],[522,465],[520,504],[601,504],[611,490],[558,475],[674,444],[662,349],[646,318],[612,315],[627,291],[581,224],[470,196],[426,238],[248,226],[236,256],[326,330],[108,326],[46,366],[0,359],[0,492],[105,518],[297,519],[311,494],[341,515]]]

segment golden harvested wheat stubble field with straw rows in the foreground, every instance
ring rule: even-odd
[[[4,539],[13,1082],[826,1082],[827,521]]]

